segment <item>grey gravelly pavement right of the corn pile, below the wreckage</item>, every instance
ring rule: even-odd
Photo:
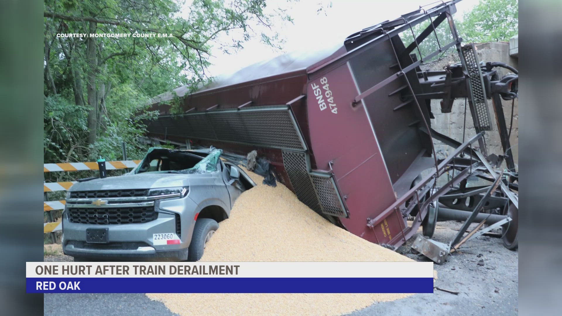
[[[460,225],[454,221],[438,223],[433,239],[450,241]],[[410,252],[413,241],[414,238],[398,251]],[[517,315],[518,252],[505,249],[500,239],[486,236],[466,242],[459,250],[445,264],[434,265],[438,275],[434,286],[459,292],[458,295],[435,290],[433,294],[374,304],[350,315]],[[405,255],[429,261],[423,256]],[[483,266],[478,265],[479,260],[483,260]]]

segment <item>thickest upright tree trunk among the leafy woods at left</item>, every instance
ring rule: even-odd
[[[96,33],[97,24],[96,22],[89,22],[89,33],[93,34]],[[86,43],[87,51],[86,51],[86,59],[88,62],[88,84],[87,84],[87,93],[88,93],[88,144],[92,145],[96,142],[97,138],[97,130],[98,130],[98,120],[97,120],[97,109],[98,109],[98,101],[97,101],[97,89],[96,89],[96,77],[97,77],[97,53],[96,53],[96,38],[88,37],[88,41]]]

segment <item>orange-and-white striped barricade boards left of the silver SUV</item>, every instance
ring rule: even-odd
[[[135,168],[140,163],[140,160],[119,160],[119,161],[106,161],[107,170]],[[65,162],[60,164],[43,164],[44,172],[57,172],[57,171],[83,171],[83,170],[99,170],[97,162]],[[67,182],[44,182],[43,192],[53,191],[67,191],[72,184],[77,181]],[[47,213],[48,223],[43,223],[43,233],[51,233],[51,241],[56,242],[55,232],[62,230],[61,218],[57,220],[51,211],[64,210],[66,202],[64,200],[58,201],[44,201],[43,211]]]

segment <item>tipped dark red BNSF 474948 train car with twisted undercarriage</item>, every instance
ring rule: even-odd
[[[439,206],[456,211],[455,216],[464,211],[469,224],[478,213],[498,213],[496,222],[511,222],[505,228],[506,244],[516,246],[516,170],[500,97],[516,97],[517,78],[498,78],[493,68],[505,65],[483,65],[473,46],[461,44],[452,20],[458,1],[371,26],[333,49],[287,54],[246,67],[184,96],[183,114],[169,114],[165,103],[172,94],[162,94],[155,98],[153,109],[160,116],[148,124],[149,136],[241,155],[257,150],[312,210],[393,249],[420,225],[431,236]],[[413,26],[420,23],[427,27],[414,34]],[[439,41],[443,28],[446,42]],[[404,34],[411,35],[411,43],[404,43]],[[428,51],[423,43],[430,37],[437,39],[437,47]],[[459,65],[420,69],[451,47],[459,52]],[[175,89],[180,96],[185,91]],[[468,98],[478,132],[463,144],[430,127],[429,101],[442,100],[441,111],[447,112],[454,98]],[[483,143],[483,131],[491,130],[488,98],[502,120],[497,120],[506,150],[501,157],[487,156]],[[438,161],[433,138],[456,150]],[[476,142],[478,151],[472,148]],[[502,160],[510,177],[498,174]],[[423,170],[429,170],[425,177]],[[445,189],[436,187],[437,178],[451,170],[456,175],[453,171]],[[467,188],[471,175],[491,184]],[[464,203],[466,198],[472,202]],[[414,220],[409,222],[409,216]]]

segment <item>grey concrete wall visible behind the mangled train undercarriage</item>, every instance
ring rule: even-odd
[[[511,57],[509,55],[509,43],[507,42],[494,42],[494,43],[482,43],[477,44],[477,53],[480,61],[500,61],[506,64],[518,68],[518,59]],[[422,70],[443,70],[443,66],[447,64],[456,64],[459,62],[459,55],[457,53],[452,53],[447,58],[443,58],[436,62],[429,63],[422,66]],[[509,73],[509,70],[504,68],[500,69],[501,76]],[[432,119],[432,127],[439,133],[450,136],[457,141],[463,141],[463,124],[464,124],[464,112],[465,112],[465,100],[457,99],[453,103],[451,113],[441,113],[441,106],[439,105],[440,100],[433,100],[431,107],[435,119]],[[502,100],[502,106],[504,107],[504,113],[506,117],[506,125],[509,130],[510,118],[511,118],[511,102]],[[492,107],[492,100],[488,99],[488,106],[490,107],[490,116],[492,120],[493,130],[486,132],[486,145],[488,149],[488,154],[502,155],[503,150],[501,147],[500,135],[497,132],[496,118]],[[518,164],[518,152],[519,146],[519,112],[518,112],[518,100],[515,99],[514,102],[514,118],[513,118],[513,128],[511,129],[511,151],[514,155],[515,164]],[[469,139],[475,135],[474,124],[472,120],[472,115],[470,115],[470,108],[468,102],[466,103],[466,130],[465,139]],[[436,152],[438,157],[446,157],[452,148],[442,144],[441,142],[435,141]],[[478,146],[478,143],[476,143]],[[505,164],[504,164],[505,167]]]

